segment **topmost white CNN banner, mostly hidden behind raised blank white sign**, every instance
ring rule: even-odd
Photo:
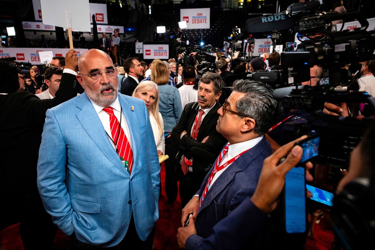
[[[33,0],[33,9],[35,21],[42,21],[42,10],[40,9],[40,0]],[[108,24],[107,4],[90,3],[90,22],[92,15],[95,15],[97,24]]]

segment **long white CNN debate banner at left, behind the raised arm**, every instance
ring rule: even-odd
[[[52,51],[53,55],[65,57],[69,49],[56,48],[0,48],[0,58],[15,57],[17,61],[25,61],[31,64],[40,64],[39,52]],[[87,49],[75,49],[77,57],[87,51]]]

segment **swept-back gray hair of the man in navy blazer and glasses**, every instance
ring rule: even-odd
[[[273,98],[273,88],[262,82],[237,80],[233,83],[233,91],[245,94],[237,101],[237,112],[255,120],[255,133],[266,134],[283,109],[281,102]]]

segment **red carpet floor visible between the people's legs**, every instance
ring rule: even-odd
[[[181,226],[181,202],[177,195],[177,200],[172,205],[167,204],[167,198],[164,192],[165,171],[162,165],[162,194],[159,200],[159,221],[156,224],[155,250],[178,249],[176,234],[177,228]],[[2,246],[6,250],[23,250],[20,238],[19,224],[10,226],[1,233]],[[320,224],[314,228],[315,239],[307,239],[307,250],[329,250],[332,249],[333,231],[330,226],[329,216],[325,215]],[[61,231],[57,231],[54,242],[54,250],[68,250],[68,237]]]

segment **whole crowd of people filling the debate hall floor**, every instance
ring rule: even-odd
[[[278,234],[270,224],[280,216],[272,211],[285,174],[303,154],[293,146],[302,138],[287,141],[284,126],[321,121],[306,110],[283,110],[273,88],[262,82],[237,80],[228,98],[222,103],[219,98],[223,78],[270,69],[282,63],[280,54],[265,54],[249,65],[218,58],[222,67],[196,85],[196,68],[174,58],[149,64],[127,58],[118,66],[116,38],[115,33],[110,42],[103,33],[100,49],[79,58],[73,49],[65,58],[54,57],[43,81],[36,78],[36,66],[23,70],[0,61],[0,182],[7,204],[0,230],[21,222],[25,249],[52,249],[57,228],[69,235],[69,249],[152,249],[164,166],[168,204],[179,189],[181,248],[279,244],[266,237]],[[355,65],[343,68],[343,77],[354,82],[352,91],[374,96],[375,62],[360,66],[360,74],[353,72]],[[323,76],[315,72],[318,67],[312,68],[316,81],[306,84],[320,84]],[[355,111],[346,103],[323,108],[326,114],[354,116],[363,114],[365,105]],[[373,175],[374,154],[364,148],[372,143],[373,129],[353,151],[340,189]],[[161,165],[163,155],[169,159]],[[312,167],[306,164],[307,181],[313,181]],[[314,206],[309,212],[310,225],[323,214]],[[303,238],[308,236],[314,238],[313,227]],[[302,249],[304,239],[288,244]]]

